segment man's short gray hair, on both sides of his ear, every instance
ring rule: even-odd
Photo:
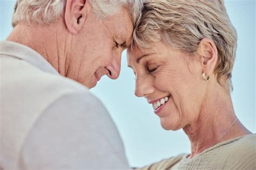
[[[89,0],[96,15],[104,17],[114,15],[122,7],[132,17],[133,25],[143,8],[142,0]],[[63,15],[66,0],[17,0],[12,17],[12,26],[18,23],[50,24]]]

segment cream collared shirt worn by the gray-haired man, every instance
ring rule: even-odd
[[[86,87],[29,47],[0,48],[2,169],[129,169],[116,126]]]

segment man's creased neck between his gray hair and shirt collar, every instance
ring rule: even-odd
[[[48,61],[61,75],[66,75],[68,70],[67,53],[63,49],[66,47],[64,38],[65,30],[57,32],[58,24],[51,26],[41,25],[17,25],[10,36],[6,39],[30,47]]]

